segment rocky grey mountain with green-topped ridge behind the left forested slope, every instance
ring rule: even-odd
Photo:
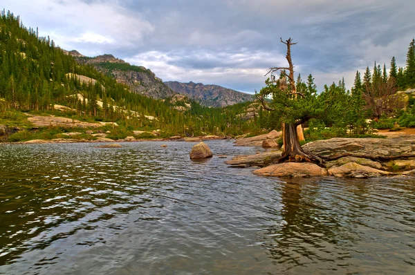
[[[118,83],[129,86],[130,91],[134,93],[154,99],[172,97],[176,94],[163,83],[162,79],[143,66],[133,66],[113,55],[85,57],[76,50],[66,51],[66,53],[72,55],[78,63],[92,65],[101,73],[114,77]]]

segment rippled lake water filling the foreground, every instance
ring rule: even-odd
[[[414,178],[260,178],[193,145],[0,145],[0,274],[415,274]]]

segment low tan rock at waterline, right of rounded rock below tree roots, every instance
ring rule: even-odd
[[[343,164],[341,167],[329,169],[329,174],[339,178],[374,178],[379,176],[389,176],[391,173],[374,169],[371,167],[357,164],[356,162],[349,162]]]

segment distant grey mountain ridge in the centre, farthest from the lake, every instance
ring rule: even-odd
[[[218,85],[203,85],[201,83],[165,82],[176,93],[187,95],[204,106],[223,107],[241,102],[253,101],[254,95],[241,93]]]

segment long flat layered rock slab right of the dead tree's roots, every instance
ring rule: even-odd
[[[415,137],[396,138],[331,138],[302,146],[304,151],[317,155],[336,153],[366,153],[372,155],[400,155],[415,152]]]

